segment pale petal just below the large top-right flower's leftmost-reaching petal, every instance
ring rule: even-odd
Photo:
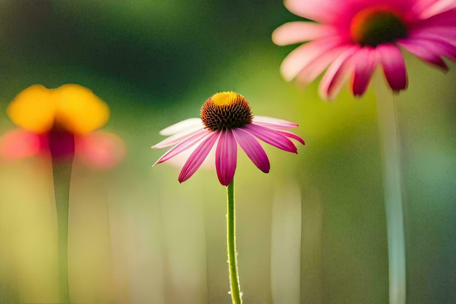
[[[295,48],[280,65],[280,72],[286,81],[291,81],[303,68],[325,52],[343,44],[342,38],[326,38],[307,42]]]

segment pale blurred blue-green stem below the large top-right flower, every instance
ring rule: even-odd
[[[389,303],[405,303],[405,233],[400,176],[400,145],[394,95],[376,73],[378,128],[383,156],[383,196],[388,234]]]

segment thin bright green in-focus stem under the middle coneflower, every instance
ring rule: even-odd
[[[233,304],[241,304],[241,295],[239,293],[239,275],[238,275],[238,258],[236,251],[236,211],[234,208],[234,178],[228,185],[228,213],[227,213],[227,241],[228,241],[228,267],[231,300]]]

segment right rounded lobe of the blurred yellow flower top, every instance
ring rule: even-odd
[[[85,134],[102,127],[109,119],[109,107],[91,90],[78,84],[55,89],[56,122],[75,134]]]

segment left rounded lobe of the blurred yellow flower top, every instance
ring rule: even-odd
[[[7,109],[8,116],[18,126],[43,133],[52,128],[56,111],[53,90],[35,84],[19,93]]]

